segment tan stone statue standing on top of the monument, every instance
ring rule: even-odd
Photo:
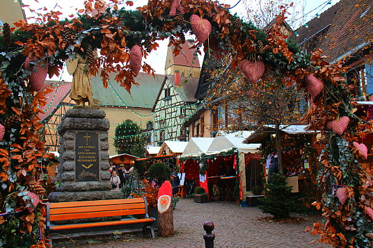
[[[66,66],[69,74],[73,75],[70,98],[77,106],[84,107],[86,101],[88,101],[88,106],[97,106],[97,99],[93,98],[87,60],[77,55],[77,58],[68,59]]]

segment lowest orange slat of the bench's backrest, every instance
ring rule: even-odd
[[[123,215],[141,215],[145,214],[145,208],[130,209],[130,210],[114,210],[104,212],[90,212],[90,213],[65,213],[62,215],[50,215],[50,221],[55,220],[75,220],[95,217],[109,217],[109,216],[123,216]]]

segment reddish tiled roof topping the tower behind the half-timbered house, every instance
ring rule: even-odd
[[[198,67],[200,68],[200,61],[198,56],[195,54],[196,49],[191,49],[194,46],[194,42],[189,40],[185,41],[184,44],[181,44],[182,50],[177,56],[173,58],[174,65],[183,65],[188,67]],[[172,49],[175,49],[175,46],[171,45]]]

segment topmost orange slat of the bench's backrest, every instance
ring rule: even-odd
[[[74,206],[100,206],[100,205],[115,205],[115,204],[137,204],[144,202],[141,198],[132,199],[112,199],[112,200],[98,200],[98,201],[66,201],[49,203],[51,208],[69,208]]]

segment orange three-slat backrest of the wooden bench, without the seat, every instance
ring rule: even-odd
[[[66,201],[47,205],[48,222],[141,214],[148,217],[148,204],[145,197],[99,201]]]

